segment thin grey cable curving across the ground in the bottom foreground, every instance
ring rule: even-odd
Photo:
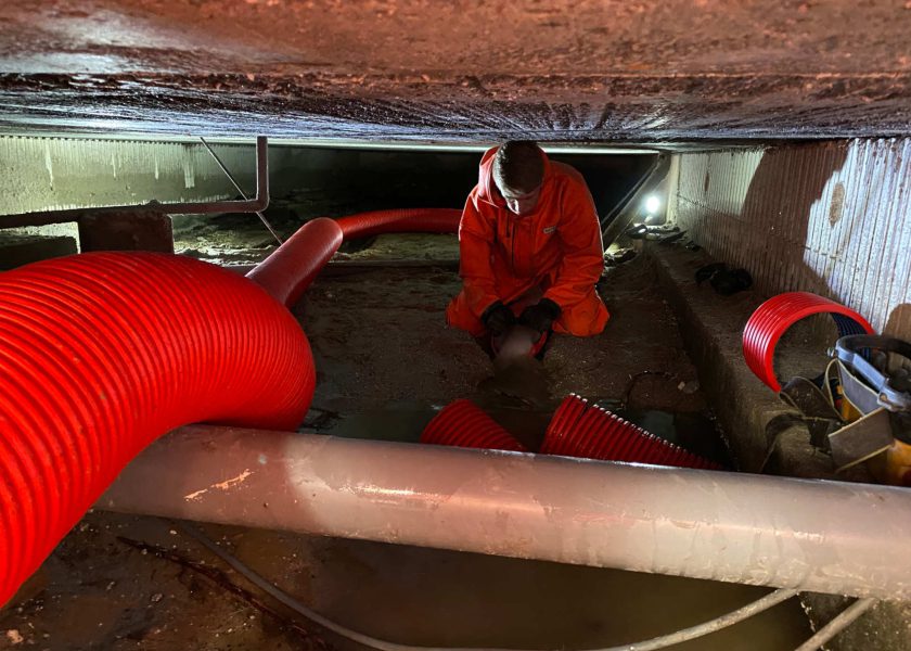
[[[351,630],[342,626],[341,624],[336,624],[331,620],[328,620],[317,613],[316,611],[309,609],[297,599],[288,595],[287,592],[281,590],[272,583],[266,580],[262,576],[251,570],[247,565],[245,565],[240,559],[234,557],[233,554],[229,553],[228,551],[221,549],[218,545],[215,544],[211,538],[206,536],[202,533],[198,528],[190,524],[178,524],[175,523],[175,526],[184,531],[189,536],[194,538],[201,545],[203,545],[206,549],[211,551],[215,556],[219,559],[228,563],[232,569],[234,569],[238,573],[244,576],[247,580],[253,583],[259,589],[265,591],[266,593],[270,595],[287,608],[296,611],[297,613],[304,615],[308,620],[316,622],[320,626],[328,628],[329,630],[341,635],[349,640],[358,642],[360,644],[364,644],[365,647],[370,647],[372,649],[378,649],[380,651],[523,651],[517,649],[486,649],[486,648],[450,648],[450,647],[414,647],[410,644],[399,644],[397,642],[389,642],[386,640],[380,640],[362,633],[358,633],[356,630]],[[681,642],[685,642],[688,640],[692,640],[695,638],[700,638],[717,630],[721,630],[728,626],[733,626],[744,620],[752,617],[753,615],[759,614],[760,612],[772,608],[773,605],[778,605],[782,601],[786,601],[791,599],[797,593],[797,590],[788,589],[788,588],[781,588],[774,590],[773,592],[769,592],[761,599],[758,599],[752,603],[744,605],[743,608],[739,608],[735,611],[721,615],[720,617],[716,617],[709,622],[704,622],[702,624],[697,624],[696,626],[691,626],[690,628],[684,628],[682,630],[678,630],[676,633],[671,633],[668,635],[663,635],[660,637],[653,638],[651,640],[645,640],[642,642],[632,642],[629,644],[620,644],[618,647],[608,647],[603,649],[594,649],[591,651],[654,651],[656,649],[665,649],[672,644],[679,644]],[[822,633],[822,631],[820,631]],[[836,631],[837,633],[837,631]],[[819,634],[817,634],[819,635]],[[834,635],[834,634],[833,634]],[[803,650],[803,647],[800,649]]]

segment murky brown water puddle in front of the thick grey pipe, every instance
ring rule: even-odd
[[[769,591],[362,540],[326,541],[319,556],[324,564],[309,591],[321,612],[376,637],[434,647],[612,647],[706,622]],[[780,651],[796,649],[810,635],[791,599],[669,649]]]

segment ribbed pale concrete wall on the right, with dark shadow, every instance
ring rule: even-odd
[[[766,294],[806,290],[911,339],[911,138],[679,155],[670,215]]]

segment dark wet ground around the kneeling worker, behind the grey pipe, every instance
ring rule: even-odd
[[[425,259],[458,257],[451,235],[384,237],[350,257],[368,258],[374,248],[381,259],[390,252],[411,257],[415,245]],[[560,401],[577,393],[729,464],[696,370],[654,285],[644,259],[611,269],[601,282],[612,312],[602,335],[555,334],[542,365],[495,373],[471,336],[446,327],[446,303],[461,286],[451,268],[428,260],[416,268],[333,269],[295,310],[319,374],[305,427],[416,441],[441,407],[470,398],[536,449]]]

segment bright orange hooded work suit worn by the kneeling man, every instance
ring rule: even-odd
[[[462,291],[446,309],[454,328],[485,333],[480,315],[539,288],[563,310],[556,332],[577,336],[604,330],[608,314],[594,290],[604,266],[601,227],[582,176],[544,158],[544,180],[535,210],[517,216],[493,182],[493,155],[480,159],[478,183],[459,224]],[[518,312],[522,305],[513,306]]]

